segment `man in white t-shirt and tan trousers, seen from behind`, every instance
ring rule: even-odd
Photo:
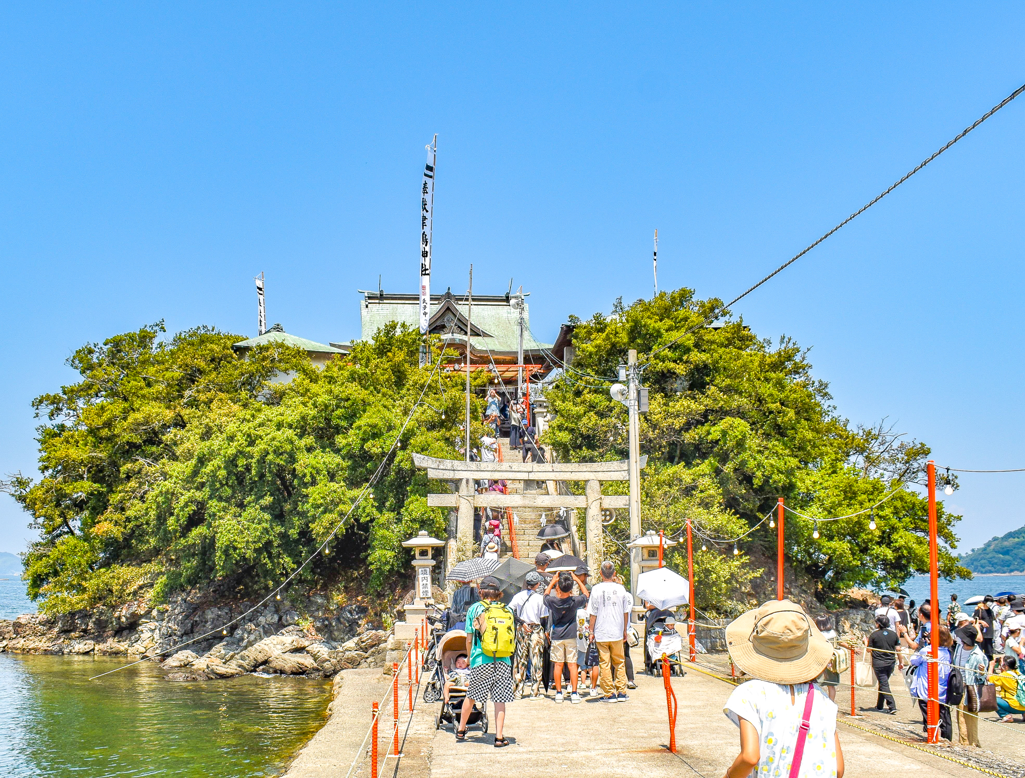
[[[626,642],[626,627],[630,620],[633,598],[623,584],[615,580],[616,569],[611,562],[603,562],[600,568],[602,582],[590,590],[587,614],[590,623],[587,631],[590,640],[598,644],[598,661],[602,668],[603,702],[625,702],[626,662],[623,644]],[[612,668],[616,668],[613,686]]]

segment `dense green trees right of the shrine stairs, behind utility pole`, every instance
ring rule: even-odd
[[[738,541],[739,555],[724,541],[758,525],[778,497],[822,520],[852,514],[901,484],[920,482],[929,449],[884,424],[852,428],[829,404],[827,384],[812,376],[807,353],[789,338],[773,344],[741,322],[721,320],[656,351],[719,304],[680,289],[575,321],[575,361],[547,397],[557,414],[548,441],[561,458],[624,458],[626,409],[601,379],[617,374],[627,350],[639,352],[650,390],[650,410],[641,419],[642,453],[649,455],[643,529],[679,536],[690,517],[697,545],[707,547],[696,557],[698,606],[723,611],[731,588],[761,573],[746,552],[761,545],[760,556],[775,558],[776,533],[761,524]],[[625,541],[627,520],[619,514],[610,530]],[[868,528],[871,518],[822,521],[816,539],[812,521],[787,514],[786,552],[823,599],[928,571],[925,499],[901,490],[875,508],[875,530]],[[940,569],[947,577],[970,575],[949,550],[959,518],[939,506]],[[686,569],[684,552],[676,546],[670,564]]]

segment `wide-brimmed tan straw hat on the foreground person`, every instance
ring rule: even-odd
[[[776,684],[810,681],[832,658],[832,645],[789,600],[770,600],[732,621],[726,645],[740,669]]]

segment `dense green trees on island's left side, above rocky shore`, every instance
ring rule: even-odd
[[[150,585],[158,598],[215,580],[265,590],[329,537],[301,580],[369,567],[379,584],[402,540],[445,531],[409,452],[455,454],[462,383],[428,382],[417,333],[386,328],[319,370],[281,344],[243,358],[237,335],[161,332],[83,346],[69,360],[81,380],[35,401],[42,479],[5,487],[40,532],[26,577],[43,611]],[[414,411],[421,392],[429,405]],[[350,515],[384,458],[372,498]]]

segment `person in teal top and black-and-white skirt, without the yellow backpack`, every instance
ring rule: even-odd
[[[486,607],[501,601],[501,584],[493,576],[481,579],[482,601],[474,603],[466,612],[466,653],[469,654],[469,685],[462,705],[455,739],[466,739],[466,722],[475,704],[486,705],[490,697],[495,703],[495,748],[509,744],[504,737],[505,703],[512,701],[512,663],[507,656],[488,656],[481,647],[481,636],[474,628],[474,620]]]

